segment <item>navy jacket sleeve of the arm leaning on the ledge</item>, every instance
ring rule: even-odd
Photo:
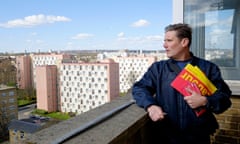
[[[145,110],[150,105],[156,104],[154,94],[156,92],[157,69],[156,64],[153,64],[143,77],[134,83],[132,88],[132,96],[136,104]]]

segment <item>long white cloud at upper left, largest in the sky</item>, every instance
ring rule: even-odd
[[[33,27],[42,24],[51,24],[55,22],[68,22],[71,19],[64,16],[53,15],[31,15],[24,17],[23,19],[10,20],[6,23],[1,23],[0,27],[14,28],[14,27]]]

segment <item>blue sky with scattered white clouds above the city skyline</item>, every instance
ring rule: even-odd
[[[163,49],[172,0],[1,0],[0,53]]]

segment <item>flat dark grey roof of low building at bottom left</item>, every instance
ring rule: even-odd
[[[12,120],[8,129],[9,130],[18,130],[26,133],[34,133],[41,128],[40,124],[21,121],[21,120]]]

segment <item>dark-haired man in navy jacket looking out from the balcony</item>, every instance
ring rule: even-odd
[[[218,128],[213,115],[231,106],[231,90],[214,63],[195,57],[190,52],[192,29],[187,24],[173,24],[165,28],[164,48],[168,60],[155,62],[144,76],[133,85],[132,94],[137,105],[143,107],[152,121],[161,125],[163,144],[210,144],[210,135]],[[191,90],[189,96],[181,95],[171,82],[188,63],[198,66],[216,86],[210,96]],[[196,116],[195,109],[206,112]],[[161,137],[161,138],[160,138]]]

